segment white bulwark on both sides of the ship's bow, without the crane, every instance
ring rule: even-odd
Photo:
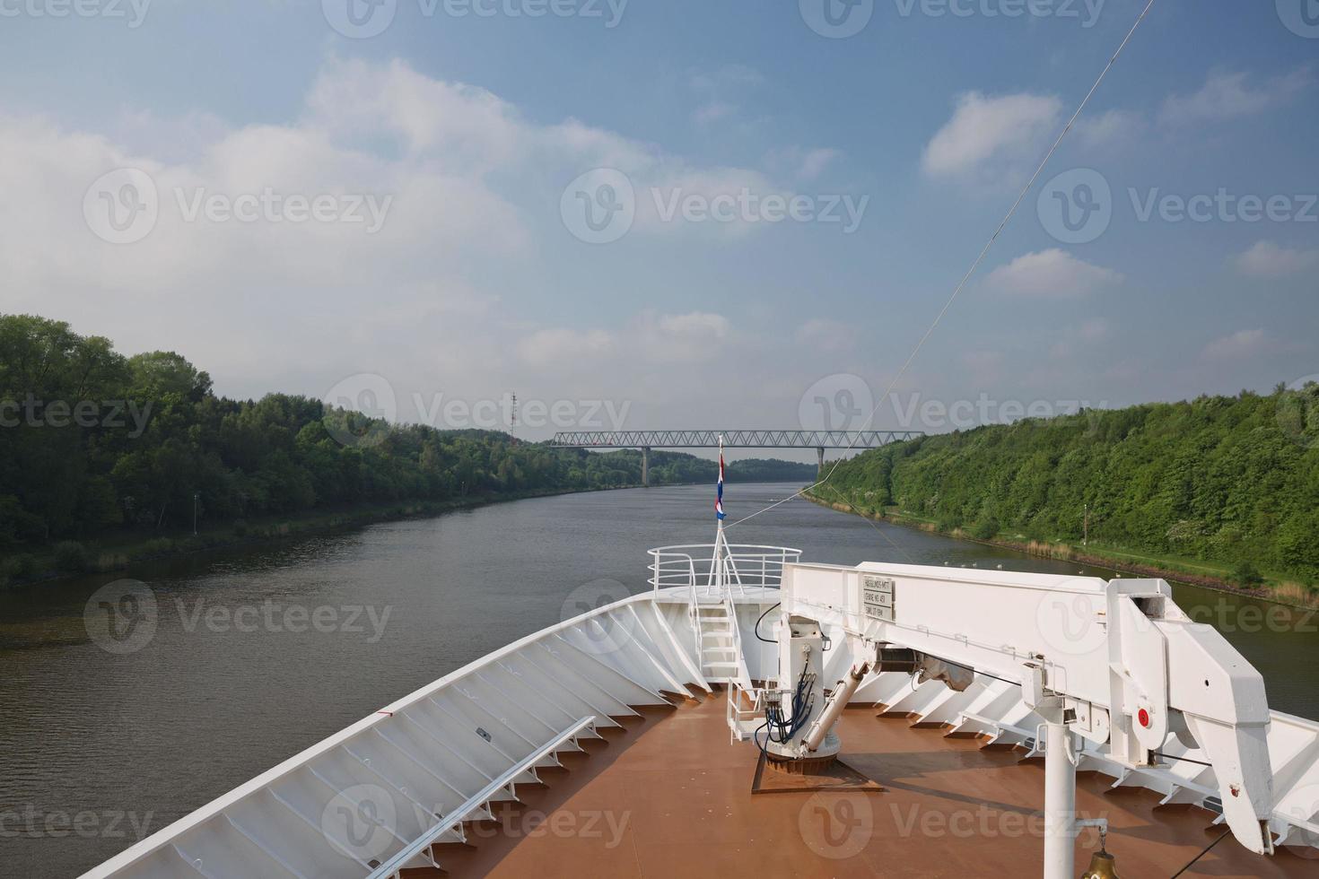
[[[754,548],[747,552],[762,552]],[[760,714],[752,681],[777,675],[776,646],[753,637],[757,619],[780,601],[776,589],[793,551],[774,551],[723,594],[696,586],[687,561],[656,555],[654,590],[551,626],[447,675],[324,742],[286,760],[193,814],[141,841],[84,879],[361,879],[414,867],[443,868],[435,846],[464,839],[464,824],[489,818],[516,800],[538,770],[617,726],[636,708],[728,689],[731,739],[751,737]],[[686,569],[691,568],[689,577]],[[708,568],[707,568],[708,572]],[[947,577],[947,569],[938,569]],[[1006,575],[1016,579],[1041,575]],[[667,585],[681,580],[685,585]],[[842,642],[842,622],[826,621]],[[845,651],[826,655],[823,680],[842,679]],[[752,700],[753,701],[753,700]],[[939,681],[917,685],[905,673],[872,675],[852,705],[1018,746],[1030,756],[1041,718],[1016,684],[977,676],[966,692]],[[751,747],[740,745],[739,747]],[[1277,804],[1269,829],[1279,845],[1319,843],[1319,723],[1273,714],[1268,747]],[[1086,745],[1078,768],[1141,787],[1163,804],[1221,812],[1204,755],[1175,742],[1169,767],[1124,768],[1107,746]],[[710,759],[718,762],[719,754]],[[1221,820],[1221,818],[1220,818]]]

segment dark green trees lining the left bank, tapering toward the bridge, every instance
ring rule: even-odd
[[[715,464],[653,452],[652,484]],[[743,461],[729,476],[807,478]],[[0,315],[0,553],[168,534],[317,509],[637,485],[641,453],[551,448],[493,431],[388,424],[291,394],[219,397],[185,357],[125,357],[67,323]]]

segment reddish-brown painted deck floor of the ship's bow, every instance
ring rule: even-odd
[[[547,785],[518,789],[501,824],[437,855],[452,876],[1038,876],[1043,766],[1012,751],[849,709],[843,754],[882,792],[761,793],[757,749],[729,745],[724,697],[650,709],[588,755],[568,755]],[[1199,809],[1158,809],[1149,791],[1107,793],[1083,774],[1082,817],[1107,817],[1126,879],[1167,879],[1220,828]],[[1097,846],[1076,845],[1078,875]],[[421,871],[418,871],[419,874]],[[1319,861],[1252,854],[1224,839],[1187,876],[1319,876]]]

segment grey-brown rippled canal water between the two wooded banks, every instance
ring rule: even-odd
[[[729,485],[728,521],[795,488]],[[125,575],[0,592],[0,875],[77,875],[437,677],[645,590],[646,550],[708,543],[712,506],[710,486],[537,498],[142,565],[127,576],[152,623],[120,640],[98,590]],[[729,539],[807,561],[1111,576],[799,499]],[[1264,672],[1273,708],[1319,717],[1319,618],[1177,597]]]

